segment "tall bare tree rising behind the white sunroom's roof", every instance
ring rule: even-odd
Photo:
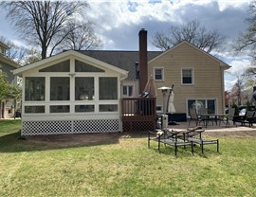
[[[83,17],[85,1],[4,1],[7,18],[29,45],[40,46],[41,57],[53,55],[70,33],[68,24]]]

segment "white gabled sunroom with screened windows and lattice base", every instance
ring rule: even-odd
[[[76,51],[14,71],[23,77],[22,135],[120,132],[127,71]]]

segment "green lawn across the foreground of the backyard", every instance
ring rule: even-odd
[[[146,136],[52,149],[0,121],[0,196],[255,196],[255,137],[224,136],[220,153],[147,148]],[[214,137],[213,137],[214,138]]]

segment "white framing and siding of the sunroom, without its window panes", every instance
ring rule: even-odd
[[[84,55],[78,52],[71,52],[78,56],[64,56],[61,58],[49,58],[48,61],[41,61],[42,64],[36,63],[34,66],[29,65],[27,70],[17,70],[15,74],[22,76],[23,81],[27,77],[45,77],[46,94],[44,100],[27,101],[23,97],[22,108],[22,135],[38,135],[38,134],[82,134],[82,133],[110,133],[121,132],[122,125],[120,120],[120,84],[121,79],[125,77],[124,70],[115,70],[111,65],[110,68],[101,62],[94,62],[89,58],[87,61]],[[57,55],[58,56],[58,55]],[[70,60],[70,72],[39,72],[40,69],[55,63],[61,63]],[[87,63],[103,69],[105,72],[75,72],[75,60]],[[22,68],[25,69],[25,68]],[[121,73],[120,73],[121,72]],[[50,100],[50,78],[65,77],[69,78],[69,100]],[[94,99],[92,100],[76,100],[75,99],[75,79],[78,77],[94,78]],[[118,98],[117,99],[99,99],[99,79],[101,77],[117,78]],[[25,96],[26,84],[23,87],[23,96]],[[69,113],[50,113],[50,106],[68,105]],[[94,105],[93,112],[75,112],[76,105]],[[100,112],[100,105],[117,105],[117,110],[113,112]],[[27,106],[43,106],[45,113],[26,113]]]

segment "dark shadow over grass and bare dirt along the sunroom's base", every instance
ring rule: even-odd
[[[20,132],[0,136],[0,152],[38,152],[119,143],[120,134],[55,134],[21,136]]]

